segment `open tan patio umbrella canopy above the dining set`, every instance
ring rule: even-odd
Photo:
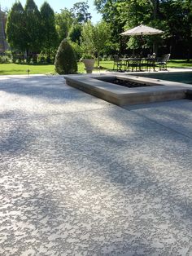
[[[164,31],[159,29],[154,29],[141,24],[133,29],[129,29],[120,34],[122,36],[143,36],[143,35],[156,35],[160,33],[164,33]]]

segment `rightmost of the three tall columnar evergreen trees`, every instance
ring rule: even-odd
[[[41,31],[42,47],[50,59],[50,51],[54,50],[58,44],[58,34],[55,29],[55,12],[49,3],[44,2],[41,6]]]

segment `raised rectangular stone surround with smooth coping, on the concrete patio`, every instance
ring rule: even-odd
[[[132,82],[149,83],[151,86],[128,88],[106,82],[111,78],[121,78]],[[119,74],[66,75],[67,84],[112,104],[145,104],[171,99],[185,99],[190,86],[180,82],[170,82],[155,78]],[[105,81],[103,81],[105,80]],[[190,90],[191,91],[191,90]]]

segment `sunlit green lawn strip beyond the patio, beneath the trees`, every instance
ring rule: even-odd
[[[97,64],[95,64],[97,67]],[[101,61],[100,67],[102,69],[112,69],[113,61]],[[168,63],[169,68],[192,68],[192,61],[189,63],[185,60],[170,60]],[[55,74],[54,65],[28,65],[28,64],[0,64],[0,75],[20,75],[27,74]],[[78,73],[85,73],[84,64],[78,64]]]

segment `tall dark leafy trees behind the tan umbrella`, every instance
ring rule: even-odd
[[[191,51],[192,2],[191,0],[94,0],[95,7],[111,26],[111,42],[120,42],[124,48],[124,38],[120,33],[138,24],[154,26],[164,30],[166,51],[177,54]],[[146,38],[151,44],[151,38]],[[130,38],[129,47],[135,39]]]

